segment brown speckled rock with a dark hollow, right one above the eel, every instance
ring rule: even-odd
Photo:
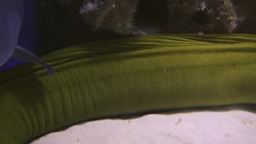
[[[168,0],[169,30],[175,33],[224,34],[237,27],[237,16],[230,0]]]

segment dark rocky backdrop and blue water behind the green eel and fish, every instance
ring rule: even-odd
[[[254,0],[24,0],[18,44],[43,56],[80,43],[145,34],[255,34],[255,5]],[[104,11],[112,7],[115,13]],[[113,22],[96,22],[101,19]],[[11,58],[0,71],[23,63]]]

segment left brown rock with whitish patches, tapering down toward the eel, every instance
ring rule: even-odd
[[[138,35],[134,25],[139,0],[84,0],[80,15],[93,29],[105,28],[124,35]]]

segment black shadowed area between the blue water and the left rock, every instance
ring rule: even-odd
[[[68,5],[63,5],[58,0],[36,2],[39,56],[81,43],[128,37],[107,29],[91,30],[80,16],[82,2],[83,0],[72,1]]]

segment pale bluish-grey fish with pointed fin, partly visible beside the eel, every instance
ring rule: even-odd
[[[17,45],[24,17],[23,5],[23,0],[0,0],[0,67],[13,57],[16,60],[41,64],[49,75],[53,75],[51,67],[34,53]]]

